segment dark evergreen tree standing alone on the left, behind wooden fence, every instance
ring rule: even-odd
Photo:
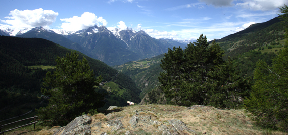
[[[51,125],[66,125],[82,113],[95,113],[102,107],[103,94],[94,91],[101,82],[101,76],[94,78],[86,58],[78,60],[76,52],[66,57],[56,58],[57,65],[53,74],[48,72],[41,88],[49,96],[49,104],[36,110],[40,119]],[[47,89],[48,88],[48,89]]]

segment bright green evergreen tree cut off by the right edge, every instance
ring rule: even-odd
[[[285,22],[288,21],[288,7],[280,8]],[[288,29],[285,29],[288,38]],[[273,59],[272,66],[264,60],[256,63],[255,84],[251,97],[245,100],[247,110],[258,125],[288,132],[288,42]]]

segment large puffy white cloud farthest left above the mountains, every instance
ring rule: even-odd
[[[15,9],[10,11],[9,15],[5,17],[8,20],[1,20],[1,22],[10,25],[12,28],[34,28],[39,26],[48,27],[55,22],[58,13],[39,8],[35,10]]]

